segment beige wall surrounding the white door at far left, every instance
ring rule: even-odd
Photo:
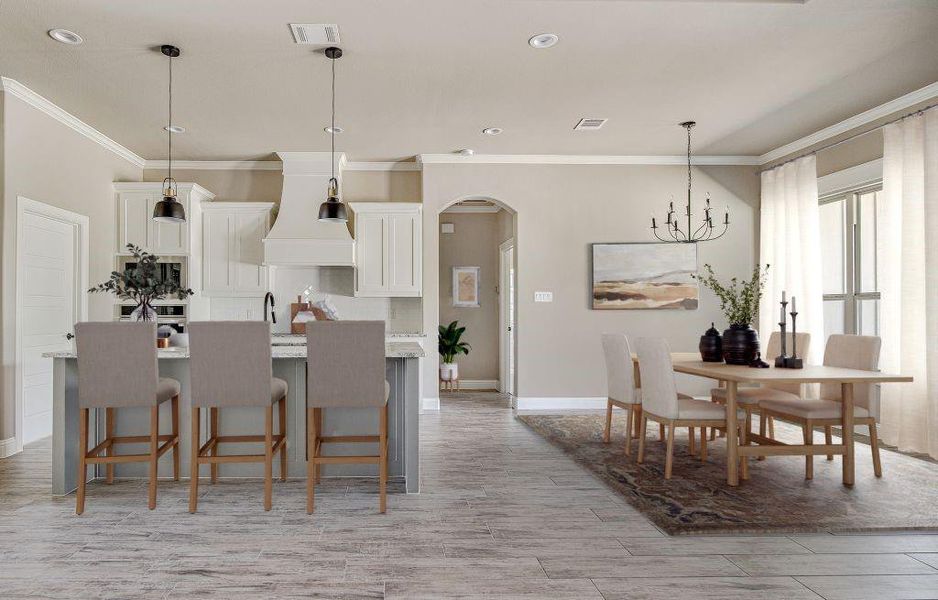
[[[2,423],[0,439],[14,434],[17,196],[86,215],[90,222],[91,283],[113,270],[117,243],[114,181],[140,181],[143,170],[69,127],[6,96],[3,103]],[[91,294],[88,316],[112,318],[110,297]],[[64,332],[63,332],[64,333]]]

